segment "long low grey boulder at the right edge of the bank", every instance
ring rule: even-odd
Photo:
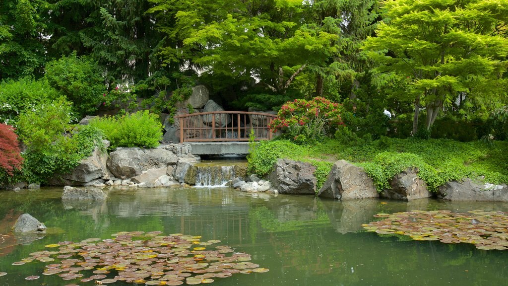
[[[437,197],[448,201],[508,202],[508,186],[481,184],[466,178],[460,182],[451,181],[442,185]]]

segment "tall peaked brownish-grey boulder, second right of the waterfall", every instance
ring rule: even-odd
[[[333,164],[319,196],[337,199],[379,197],[374,182],[363,168],[345,160]]]

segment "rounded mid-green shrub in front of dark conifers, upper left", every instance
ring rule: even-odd
[[[76,53],[62,56],[46,65],[49,84],[74,103],[80,116],[97,110],[103,101],[106,85],[96,63]]]

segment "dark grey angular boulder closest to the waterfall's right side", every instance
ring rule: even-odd
[[[271,187],[281,194],[312,194],[316,191],[315,167],[310,163],[277,159],[267,176]]]

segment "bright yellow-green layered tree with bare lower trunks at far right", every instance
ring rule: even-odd
[[[459,93],[477,107],[506,96],[508,40],[501,31],[508,23],[508,1],[394,0],[382,6],[386,12],[377,37],[367,39],[364,48],[380,64],[378,71],[410,80],[413,134],[423,106],[430,130],[439,110],[450,107]]]

